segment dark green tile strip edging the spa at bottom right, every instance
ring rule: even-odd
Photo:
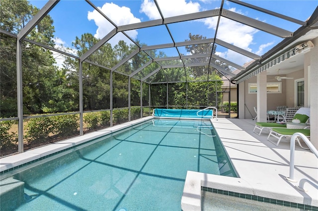
[[[274,204],[274,205],[280,205],[280,206],[289,207],[289,208],[297,208],[297,209],[306,210],[306,211],[318,211],[318,207],[311,206],[311,205],[303,205],[303,204],[287,202],[287,201],[282,201],[282,200],[276,200],[276,199],[270,199],[270,198],[260,197],[260,196],[250,195],[250,194],[242,194],[242,193],[237,193],[237,192],[233,192],[233,191],[225,191],[225,190],[203,187],[203,186],[201,186],[201,191],[207,191],[207,192],[221,194],[221,195],[225,195],[225,196],[233,196],[233,197],[257,201],[257,202],[264,202],[264,203],[269,203],[269,204]]]

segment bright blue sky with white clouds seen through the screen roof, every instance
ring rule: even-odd
[[[46,0],[30,1],[38,8],[42,8],[46,2]],[[160,18],[152,0],[91,0],[91,2],[119,26]],[[216,9],[220,6],[220,2],[220,0],[158,0],[164,17]],[[318,0],[247,0],[246,2],[302,21],[308,19],[318,5]],[[234,2],[225,1],[224,8],[291,32],[300,27],[300,25],[282,21]],[[56,44],[63,44],[69,48],[72,48],[72,41],[75,40],[76,36],[80,37],[83,33],[91,33],[101,39],[114,28],[84,0],[61,0],[50,11],[49,15],[54,20]],[[188,39],[189,33],[214,38],[216,22],[217,18],[207,18],[200,21],[170,24],[168,28],[174,42],[182,42]],[[282,40],[227,18],[222,18],[221,23],[218,39],[258,55],[266,53]],[[127,34],[148,46],[172,43],[164,26],[132,30]],[[125,40],[129,43],[129,40],[121,33],[109,42],[114,45],[119,40]],[[184,48],[179,50],[181,53],[186,53]],[[168,56],[174,56],[176,50],[165,50],[165,53]],[[250,58],[241,57],[238,53],[228,51],[221,46],[218,46],[217,54],[240,65],[250,60]]]

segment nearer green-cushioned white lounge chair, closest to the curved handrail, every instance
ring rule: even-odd
[[[302,133],[306,137],[310,138],[310,129],[308,127],[304,129],[289,129],[289,128],[272,128],[270,133],[268,134],[267,140],[276,145],[276,147],[279,145],[279,142],[282,140],[282,138],[291,138],[295,133]],[[274,142],[270,140],[270,137],[274,137],[277,139],[277,142]],[[305,148],[301,145],[299,138],[296,138],[296,141],[298,142],[299,146],[303,149],[308,150],[309,148]]]

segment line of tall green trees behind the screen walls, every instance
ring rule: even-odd
[[[0,27],[8,32],[17,34],[39,11],[27,0],[0,0]],[[49,47],[54,47],[54,22],[47,15],[38,23],[27,38]],[[189,40],[205,39],[200,35],[189,34]],[[76,37],[72,43],[78,56],[86,53],[99,39],[90,33],[84,33]],[[145,44],[135,41],[139,46]],[[88,57],[89,61],[95,62],[107,68],[111,68],[119,61],[126,58],[136,50],[136,45],[120,41],[117,45],[104,44],[100,49]],[[206,53],[211,49],[211,44],[205,46],[187,46],[189,53]],[[213,49],[215,52],[216,46]],[[148,52],[156,57],[156,51]],[[17,84],[16,84],[16,39],[1,34],[0,36],[0,117],[17,116]],[[165,57],[163,52],[157,54]],[[121,65],[116,71],[129,75],[143,64],[149,61],[146,53],[138,53],[128,62]],[[156,66],[157,65],[157,66]],[[223,65],[227,68],[226,65]],[[153,63],[139,73],[140,78],[145,77],[158,68]],[[110,108],[110,70],[92,65],[88,62],[82,63],[82,84],[83,84],[83,108],[84,110],[98,110]],[[208,73],[208,74],[207,74]],[[184,81],[187,80],[205,81],[209,79],[218,80],[220,76],[215,70],[206,67],[192,67],[191,69],[163,69],[157,75],[156,80]],[[211,83],[211,82],[209,82]],[[191,104],[207,104],[208,93],[221,89],[222,83],[217,86],[205,82],[189,83],[188,88],[193,96]],[[175,83],[168,86],[169,105],[185,105],[184,93],[185,83]],[[22,87],[23,87],[23,112],[24,114],[58,113],[79,110],[79,61],[72,57],[64,57],[62,67],[57,66],[55,53],[45,48],[22,42]],[[212,88],[213,87],[213,88]],[[131,80],[132,106],[140,105],[140,81]],[[144,105],[148,104],[148,86],[143,86]],[[152,86],[152,103],[164,105],[166,99],[166,85]],[[213,97],[211,96],[211,99]],[[163,100],[163,102],[162,102]],[[113,107],[127,107],[128,102],[128,77],[113,72]]]

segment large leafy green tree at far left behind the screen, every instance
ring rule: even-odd
[[[14,34],[25,27],[39,11],[27,0],[1,0],[0,6],[1,28]],[[46,15],[26,38],[53,47],[55,45],[52,39],[53,33],[53,20]],[[16,115],[16,112],[7,109],[16,109],[16,106],[12,106],[16,103],[12,100],[13,97],[16,98],[16,50],[15,47],[9,49],[13,45],[16,46],[16,40],[1,35],[1,116],[3,117],[11,116],[12,113]],[[24,41],[21,46],[24,113],[43,113],[49,110],[50,105],[56,105],[63,98],[61,95],[60,98],[52,98],[54,95],[58,96],[57,92],[61,90],[57,89],[54,83],[57,81],[55,78],[58,68],[54,65],[56,61],[52,52],[42,47]],[[4,80],[12,83],[3,83]]]

